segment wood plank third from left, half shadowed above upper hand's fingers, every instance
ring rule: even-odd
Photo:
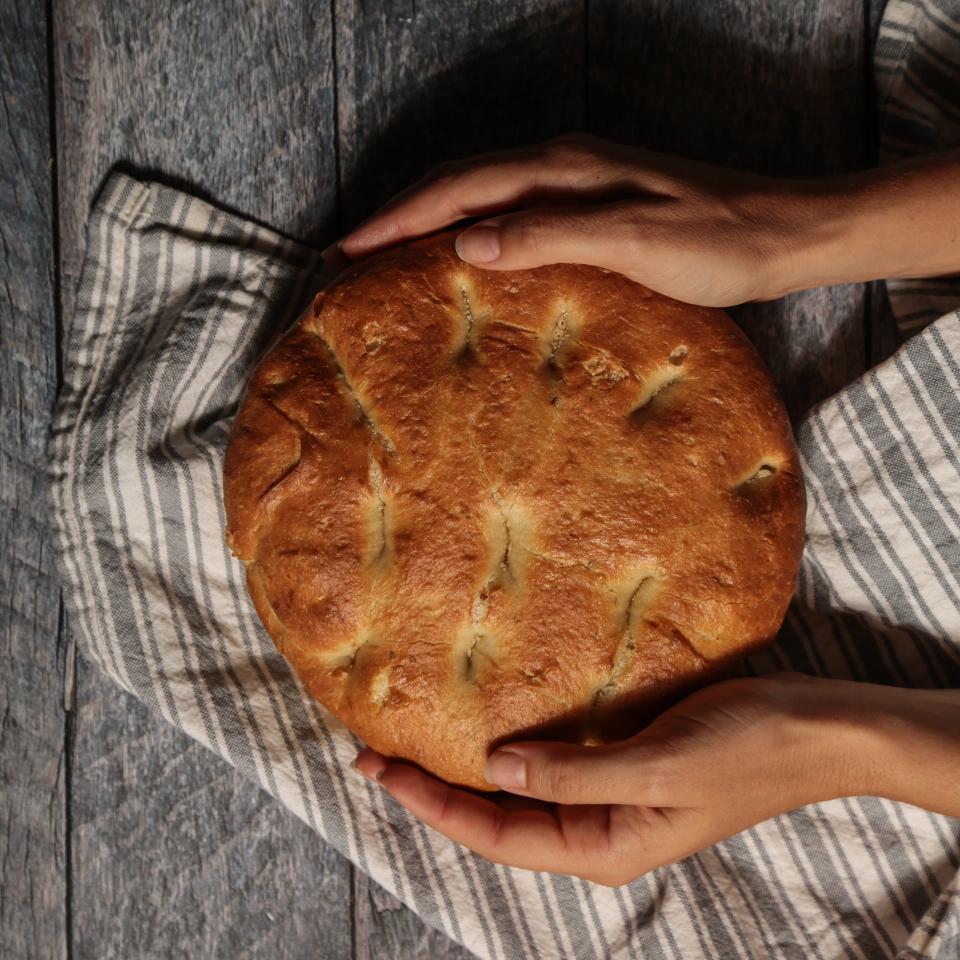
[[[445,160],[586,122],[582,0],[336,4],[341,231]],[[462,948],[355,875],[356,960]]]

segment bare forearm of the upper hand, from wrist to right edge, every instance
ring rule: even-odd
[[[960,150],[795,181],[766,206],[787,238],[774,254],[781,293],[960,272]]]

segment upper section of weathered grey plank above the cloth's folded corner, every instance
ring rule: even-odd
[[[327,0],[54,7],[64,315],[117,162],[313,243],[336,210]]]

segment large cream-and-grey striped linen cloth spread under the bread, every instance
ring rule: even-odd
[[[359,744],[275,650],[223,539],[231,416],[319,286],[316,254],[124,175],[87,240],[53,515],[71,625],[121,686],[481,957],[960,956],[960,823],[908,805],[816,804],[611,890],[490,864],[367,783],[349,767]],[[960,312],[798,439],[800,589],[745,669],[960,686]]]

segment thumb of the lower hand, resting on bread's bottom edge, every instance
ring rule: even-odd
[[[600,746],[510,743],[487,760],[487,780],[554,803],[669,806],[656,751],[639,738]]]

